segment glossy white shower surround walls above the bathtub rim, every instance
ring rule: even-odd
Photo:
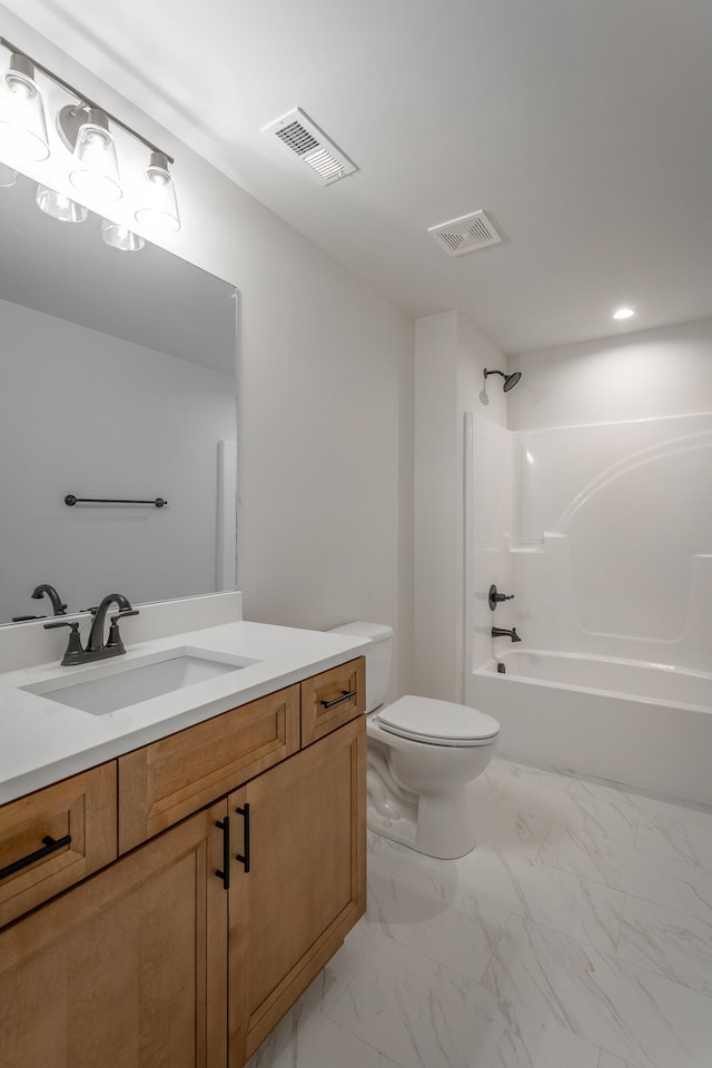
[[[494,623],[530,649],[708,671],[712,414],[467,425],[471,666],[493,655]],[[495,614],[493,582],[516,597]]]

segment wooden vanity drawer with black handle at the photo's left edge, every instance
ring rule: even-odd
[[[116,761],[0,807],[0,926],[116,856]]]

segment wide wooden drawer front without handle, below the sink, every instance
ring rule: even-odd
[[[298,749],[295,685],[119,756],[119,853]]]

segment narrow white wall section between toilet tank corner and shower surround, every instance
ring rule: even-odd
[[[425,696],[463,695],[464,418],[504,424],[501,379],[485,390],[483,374],[503,360],[458,312],[416,323],[414,683]]]

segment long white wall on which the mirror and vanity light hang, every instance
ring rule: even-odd
[[[182,217],[165,247],[241,291],[246,617],[389,623],[398,639],[393,685],[403,692],[412,633],[411,319],[68,59],[60,40],[38,38],[10,12],[6,33],[165,145],[176,157]]]

